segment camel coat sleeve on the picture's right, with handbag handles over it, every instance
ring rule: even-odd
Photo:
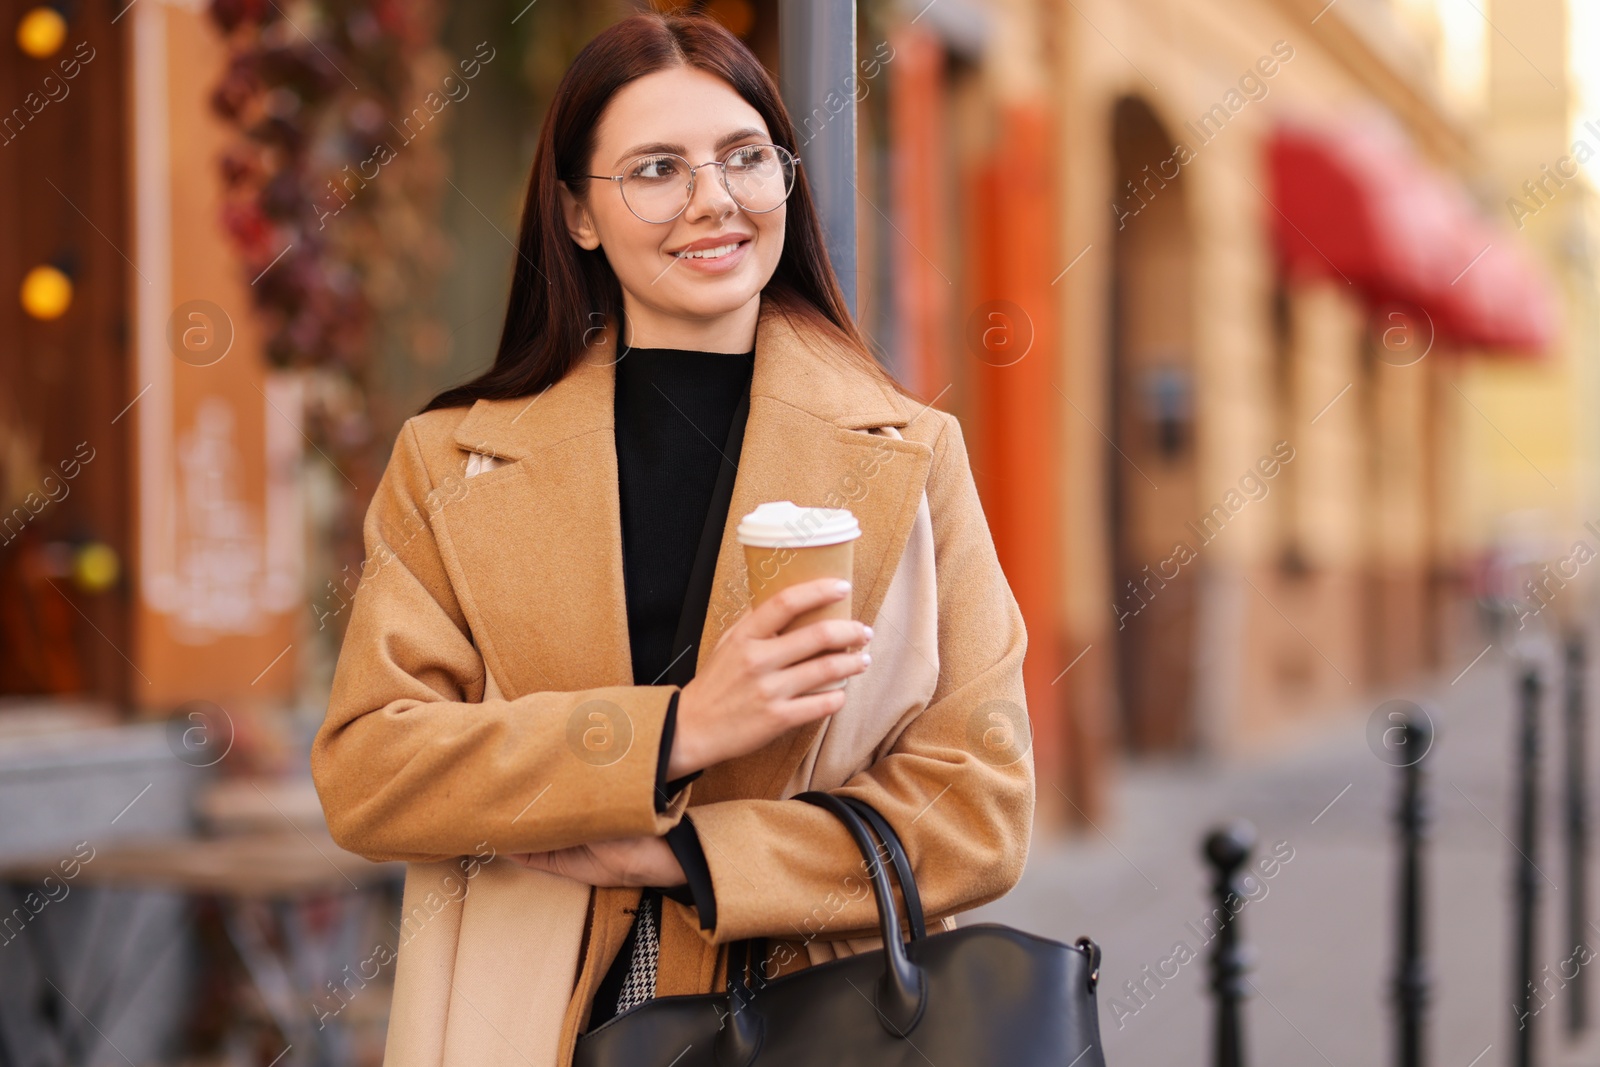
[[[939,681],[891,750],[835,790],[870,803],[899,833],[930,923],[1010,891],[1034,821],[1027,632],[960,424],[942,418],[928,474]],[[701,929],[709,944],[877,933],[864,861],[835,816],[797,800],[725,800],[698,805],[690,817],[717,899],[715,928]]]

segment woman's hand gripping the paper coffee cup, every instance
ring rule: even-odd
[[[854,619],[821,619],[792,633],[779,630],[846,592],[848,585],[840,589],[832,577],[798,582],[728,627],[706,667],[678,694],[669,779],[755,752],[845,705],[843,688],[797,694],[866,670],[870,657],[861,649],[872,629]],[[827,649],[850,651],[818,656]]]

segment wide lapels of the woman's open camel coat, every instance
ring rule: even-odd
[[[835,342],[762,302],[733,502],[710,606],[696,649],[704,667],[749,609],[734,530],[763,501],[848,507],[861,523],[851,614],[870,622],[906,547],[931,462],[915,440],[866,434],[920,413],[866,371],[827,352]],[[474,637],[506,694],[630,685],[613,394],[616,330],[544,394],[478,400],[454,434],[466,453],[509,461],[467,482],[438,522],[448,530]],[[469,606],[470,601],[470,606]],[[472,616],[477,617],[472,617]],[[480,632],[482,629],[482,632]],[[774,797],[821,725],[707,769],[696,801]]]

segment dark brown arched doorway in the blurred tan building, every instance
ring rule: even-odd
[[[1112,120],[1110,442],[1106,450],[1117,691],[1136,752],[1195,742],[1194,251],[1186,152],[1150,107]]]

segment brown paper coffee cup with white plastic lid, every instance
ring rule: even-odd
[[[739,522],[736,534],[744,545],[746,579],[754,609],[779,590],[798,582],[818,577],[850,581],[861,526],[848,507],[800,507],[794,501],[768,501]],[[818,619],[848,619],[850,601],[851,593],[845,593],[834,603],[802,611],[782,633]],[[848,681],[850,678],[840,678],[808,689],[806,694],[842,689]]]

